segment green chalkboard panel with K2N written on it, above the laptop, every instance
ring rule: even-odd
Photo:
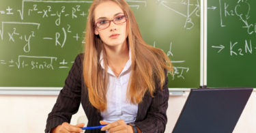
[[[208,87],[256,87],[256,1],[208,1]]]

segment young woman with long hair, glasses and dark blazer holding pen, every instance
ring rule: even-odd
[[[147,45],[125,0],[94,0],[89,9],[85,53],[76,57],[48,115],[45,132],[82,132],[70,125],[81,103],[85,132],[164,132],[169,58]]]

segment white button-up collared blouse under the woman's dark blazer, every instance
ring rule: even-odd
[[[100,65],[104,69],[103,54],[100,54]],[[126,101],[126,89],[131,72],[131,60],[129,51],[129,60],[126,62],[122,72],[118,77],[108,66],[108,87],[106,92],[107,106],[104,112],[101,112],[103,121],[112,123],[119,119],[126,123],[133,123],[137,117],[138,104],[130,104]],[[104,73],[104,71],[103,71]]]

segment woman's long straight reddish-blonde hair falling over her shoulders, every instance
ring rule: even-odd
[[[94,10],[100,3],[106,0],[94,0],[89,9],[87,18],[87,27],[85,35],[85,55],[83,60],[83,77],[89,93],[89,102],[98,110],[106,109],[106,87],[107,87],[107,70],[103,71],[100,65],[100,53],[106,57],[103,42],[99,35],[94,34]],[[127,89],[127,98],[132,104],[139,104],[143,100],[143,95],[148,91],[152,98],[156,86],[165,82],[165,70],[173,71],[171,61],[167,55],[160,49],[147,45],[139,31],[130,6],[124,0],[109,0],[117,3],[128,17],[126,39],[131,53],[132,71]],[[106,66],[106,58],[104,68]],[[104,74],[103,74],[104,72]]]

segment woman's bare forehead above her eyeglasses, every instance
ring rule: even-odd
[[[123,13],[123,10],[113,1],[100,3],[94,10],[95,20],[98,18],[113,18],[116,14]]]

